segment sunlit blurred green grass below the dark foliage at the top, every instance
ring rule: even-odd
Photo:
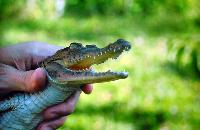
[[[95,69],[125,69],[129,77],[95,84],[91,95],[81,95],[75,112],[60,129],[198,130],[200,80],[187,76],[190,71],[179,73],[167,52],[167,41],[177,32],[156,34],[138,23],[131,18],[98,16],[6,21],[1,23],[1,44],[38,40],[67,46],[79,41],[102,47],[117,38],[127,39],[132,43],[129,53],[95,65]]]

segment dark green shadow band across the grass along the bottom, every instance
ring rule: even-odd
[[[132,111],[125,111],[123,106],[125,106],[125,104],[112,102],[101,107],[78,107],[75,114],[103,115],[104,117],[116,122],[133,123],[138,130],[157,129],[171,117],[168,112],[162,110],[150,111],[136,108]]]

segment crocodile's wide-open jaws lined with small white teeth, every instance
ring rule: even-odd
[[[94,51],[94,49],[96,50]],[[122,39],[119,39],[101,49],[97,47],[89,48],[87,53],[81,53],[82,58],[76,60],[76,63],[73,63],[73,65],[64,67],[59,64],[56,68],[61,69],[57,70],[53,77],[55,77],[59,83],[64,84],[88,84],[124,79],[128,77],[128,72],[114,72],[111,70],[105,72],[96,72],[90,67],[94,64],[104,63],[108,59],[116,59],[124,51],[129,51],[130,49],[131,45],[129,42]],[[83,49],[81,51],[83,51]]]

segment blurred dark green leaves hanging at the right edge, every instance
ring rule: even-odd
[[[200,76],[200,39],[198,36],[171,38],[167,45],[171,62],[174,62],[180,69],[191,68],[191,71]]]

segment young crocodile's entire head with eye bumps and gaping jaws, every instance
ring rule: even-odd
[[[109,58],[117,58],[123,51],[129,51],[129,42],[118,39],[104,48],[96,45],[83,46],[81,43],[71,43],[69,47],[59,50],[47,58],[43,64],[50,77],[59,83],[85,84],[123,79],[127,72],[95,72],[88,70],[94,64],[104,63]]]

